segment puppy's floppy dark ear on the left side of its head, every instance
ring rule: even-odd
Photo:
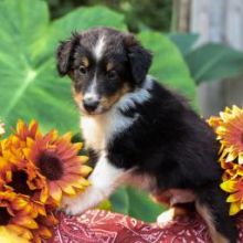
[[[78,40],[77,34],[73,34],[72,39],[61,42],[57,47],[56,67],[61,76],[66,75],[71,68],[71,61],[72,61],[71,59],[77,40]]]

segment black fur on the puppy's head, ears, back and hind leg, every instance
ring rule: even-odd
[[[104,59],[95,63],[88,52],[101,32],[108,33],[108,46]],[[85,53],[92,62],[89,76],[78,74],[81,56]],[[107,60],[117,64],[116,82],[107,84],[104,71],[98,73],[99,93],[110,95],[123,82],[130,92],[142,86],[151,63],[151,54],[133,35],[112,29],[84,32],[61,44],[57,66],[61,75],[70,74],[75,89],[84,92],[93,77],[92,68],[102,70]],[[114,86],[113,86],[114,85]],[[219,145],[207,123],[196,114],[187,102],[166,87],[152,82],[148,92],[151,98],[123,109],[123,116],[136,117],[127,129],[116,134],[107,146],[108,160],[118,168],[136,168],[136,173],[148,175],[156,180],[160,191],[189,189],[198,197],[198,203],[207,207],[215,229],[236,243],[234,219],[229,216],[225,193],[220,189],[222,171],[218,161]],[[95,157],[97,151],[93,151]]]

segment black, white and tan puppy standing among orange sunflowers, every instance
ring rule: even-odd
[[[183,98],[147,75],[150,64],[134,35],[108,28],[76,33],[59,46],[57,70],[72,80],[85,145],[97,159],[92,186],[63,207],[82,213],[118,186],[136,184],[167,193],[173,207],[193,201],[213,243],[235,243],[219,188],[215,136]]]

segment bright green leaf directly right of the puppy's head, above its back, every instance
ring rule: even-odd
[[[141,43],[154,53],[150,73],[161,83],[179,91],[189,99],[196,98],[194,82],[180,51],[165,34],[145,31],[138,34]]]

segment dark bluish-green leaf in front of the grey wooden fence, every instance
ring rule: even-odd
[[[197,84],[243,73],[243,53],[223,44],[205,44],[186,56]]]

